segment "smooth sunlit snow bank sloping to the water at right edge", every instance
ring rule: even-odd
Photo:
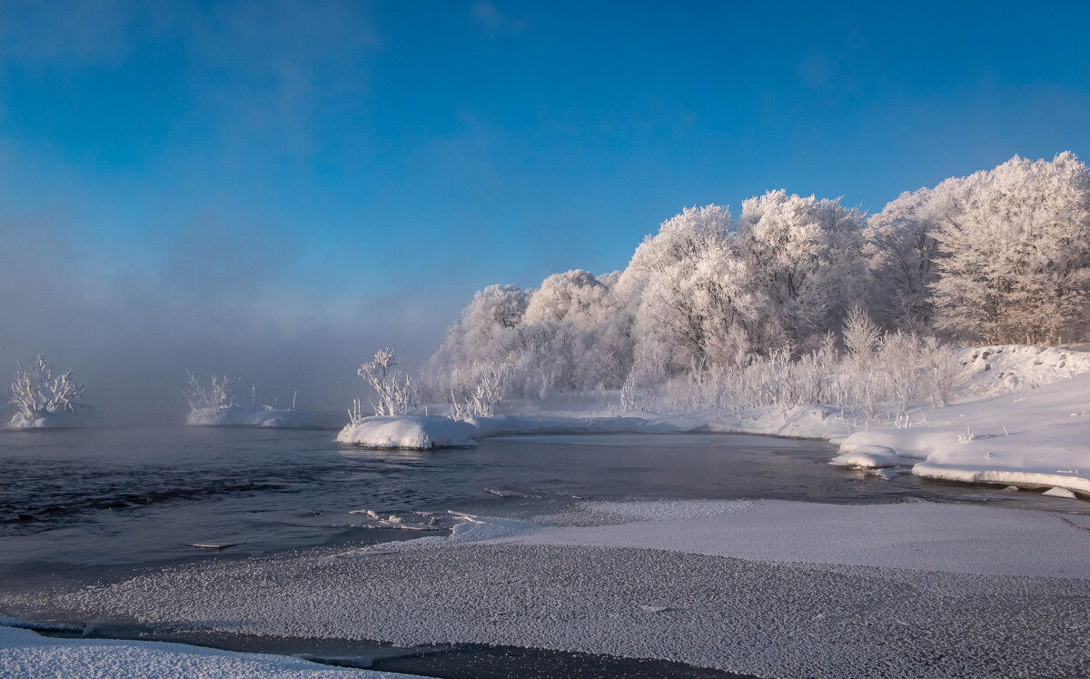
[[[899,463],[929,478],[1090,495],[1090,373],[924,415],[909,428],[852,433],[833,464]]]

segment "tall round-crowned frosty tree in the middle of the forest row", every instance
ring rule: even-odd
[[[742,203],[737,243],[767,322],[762,350],[816,348],[860,296],[863,214],[839,199],[770,191]]]

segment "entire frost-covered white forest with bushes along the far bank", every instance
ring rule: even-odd
[[[641,393],[699,406],[945,403],[943,345],[1079,341],[1088,327],[1090,174],[1069,152],[905,192],[877,214],[770,191],[686,207],[622,271],[480,290],[423,386],[464,403]]]

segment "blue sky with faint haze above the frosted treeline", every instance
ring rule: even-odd
[[[419,358],[475,289],[622,267],[683,205],[1088,153],[1090,5],[799,4],[4,0],[0,361],[240,308]]]

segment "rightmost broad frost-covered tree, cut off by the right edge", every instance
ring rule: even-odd
[[[1090,294],[1090,175],[1070,152],[1015,156],[947,179],[931,284],[936,325],[971,341],[1053,343],[1082,336]]]

